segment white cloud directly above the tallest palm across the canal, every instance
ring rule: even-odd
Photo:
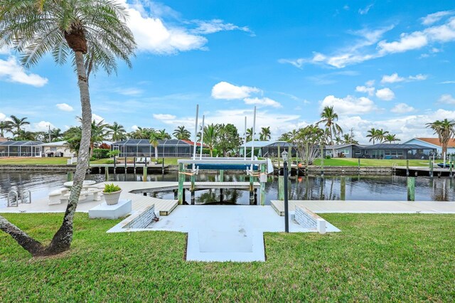
[[[368,114],[377,109],[375,102],[368,99],[368,97],[357,98],[353,96],[338,98],[328,95],[321,102],[321,108],[326,106],[333,106],[333,109],[339,115]]]

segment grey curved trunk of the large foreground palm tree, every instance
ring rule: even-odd
[[[77,154],[73,187],[71,188],[63,223],[57,233],[55,233],[49,247],[46,248],[46,255],[58,254],[70,248],[71,241],[73,240],[73,219],[79,201],[80,191],[82,190],[82,184],[85,180],[85,173],[88,168],[92,132],[92,109],[90,107],[88,78],[82,52],[75,52],[75,63],[77,68],[77,84],[79,85],[80,91],[80,104],[82,106],[82,138],[80,140],[79,153]]]

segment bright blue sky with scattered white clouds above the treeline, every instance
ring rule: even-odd
[[[127,1],[138,43],[133,68],[90,79],[95,119],[193,131],[208,123],[283,132],[333,105],[365,142],[371,127],[405,141],[455,119],[453,1]],[[0,50],[0,120],[65,130],[80,115],[75,74],[48,57],[23,70]]]

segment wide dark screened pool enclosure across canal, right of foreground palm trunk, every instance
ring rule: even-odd
[[[158,140],[158,157],[184,157],[193,155],[193,142],[177,139]],[[199,151],[198,143],[197,150]],[[127,139],[112,144],[112,150],[118,150],[119,156],[155,156],[155,147],[148,139]]]

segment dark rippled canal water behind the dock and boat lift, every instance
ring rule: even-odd
[[[105,181],[104,174],[87,175],[87,179]],[[149,174],[148,181],[177,181],[177,173]],[[188,178],[187,178],[188,179]],[[6,207],[7,195],[11,190],[22,191],[27,188],[33,199],[45,198],[50,191],[63,187],[66,174],[41,172],[0,173],[0,208]],[[109,181],[142,181],[140,174],[109,174]],[[188,181],[188,180],[187,180]],[[218,181],[216,174],[199,174],[196,181]],[[226,174],[224,181],[248,181],[245,174]],[[455,201],[455,180],[449,178],[429,179],[418,177],[415,182],[416,201]],[[142,192],[140,194],[143,194]],[[157,198],[173,199],[172,191],[147,193]],[[269,176],[266,185],[266,201],[277,199],[278,179]],[[295,200],[340,200],[340,176],[308,176],[289,181],[289,199]],[[248,191],[224,190],[224,203],[249,204]],[[346,200],[405,201],[407,199],[406,177],[403,176],[346,176]],[[187,191],[186,201],[191,201]],[[219,190],[196,192],[196,203],[218,203]],[[33,203],[33,202],[32,202]],[[1,212],[1,211],[0,211]]]

